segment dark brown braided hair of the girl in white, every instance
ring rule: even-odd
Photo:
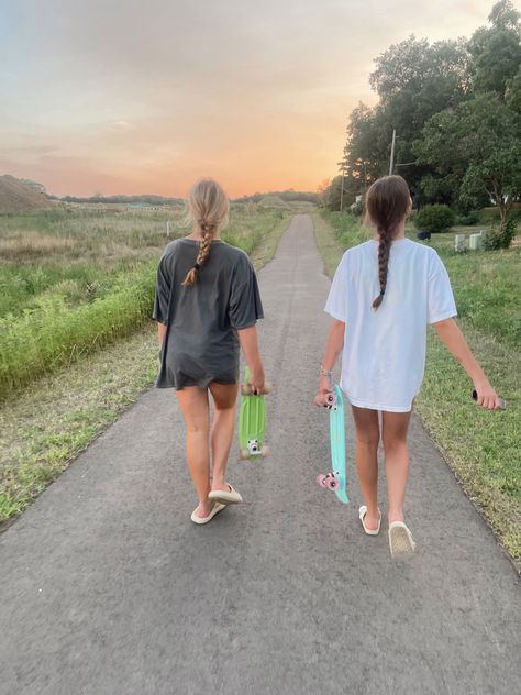
[[[369,188],[365,199],[368,221],[376,227],[378,241],[378,282],[380,294],[373,301],[378,309],[387,289],[389,256],[396,230],[411,210],[409,186],[401,176],[384,176]]]

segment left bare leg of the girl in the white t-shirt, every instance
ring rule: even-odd
[[[366,527],[378,528],[378,442],[380,429],[378,411],[352,406],[356,428],[356,468],[361,482],[362,496],[367,506],[364,519]]]

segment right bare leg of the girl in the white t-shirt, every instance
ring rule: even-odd
[[[389,523],[403,521],[403,499],[409,474],[407,432],[411,412],[384,412],[381,434],[386,454]]]

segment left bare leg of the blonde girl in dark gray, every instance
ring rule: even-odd
[[[187,428],[187,462],[199,498],[198,516],[207,517],[213,509],[210,492],[210,412],[208,391],[188,386],[176,391]]]

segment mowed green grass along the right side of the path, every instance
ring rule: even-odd
[[[330,276],[345,249],[370,238],[357,220],[340,213],[317,214],[315,231]],[[414,239],[415,230],[407,233]],[[429,329],[415,410],[521,570],[521,247],[456,254],[453,242],[453,233],[432,236],[451,276],[458,323],[508,408],[477,408],[465,373]]]

